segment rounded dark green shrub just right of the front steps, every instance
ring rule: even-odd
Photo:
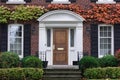
[[[79,61],[79,69],[82,71],[84,71],[86,68],[94,68],[98,66],[98,60],[92,56],[85,56]]]

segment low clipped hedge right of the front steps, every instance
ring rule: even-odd
[[[106,68],[89,68],[84,72],[84,76],[88,79],[120,79],[119,67],[106,67]]]

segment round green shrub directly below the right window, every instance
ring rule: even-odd
[[[101,67],[116,67],[117,59],[112,55],[106,55],[99,59],[99,63]]]

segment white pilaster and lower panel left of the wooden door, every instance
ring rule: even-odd
[[[44,23],[39,23],[39,58],[41,59],[40,53],[42,51],[46,51],[46,60],[48,61],[48,65],[52,65],[52,54],[51,50],[48,51],[47,48],[47,33],[46,27]]]

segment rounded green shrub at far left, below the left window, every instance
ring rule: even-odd
[[[0,68],[11,68],[19,66],[19,56],[12,52],[0,54]]]

